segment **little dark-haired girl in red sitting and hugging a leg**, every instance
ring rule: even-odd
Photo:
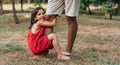
[[[69,60],[70,57],[62,54],[59,46],[58,38],[55,33],[44,35],[45,26],[53,27],[56,25],[56,19],[53,21],[44,21],[44,9],[37,7],[31,15],[31,25],[28,32],[28,45],[32,53],[37,55],[44,54],[49,49],[54,48],[57,53],[57,58],[60,60]]]

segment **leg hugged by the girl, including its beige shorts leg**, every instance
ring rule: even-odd
[[[52,18],[56,18],[56,15],[50,14],[57,14],[60,15],[64,10],[64,0],[48,0],[48,6],[46,10],[45,20],[52,21]],[[50,34],[53,32],[53,27],[46,27],[45,28],[45,35]],[[47,52],[48,53],[48,52]]]

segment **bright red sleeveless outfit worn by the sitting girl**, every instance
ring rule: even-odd
[[[28,45],[34,55],[43,54],[45,51],[52,49],[52,42],[48,39],[48,36],[44,36],[44,27],[41,27],[39,32],[32,34],[32,31],[28,32]]]

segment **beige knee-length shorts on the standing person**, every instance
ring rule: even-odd
[[[66,16],[78,16],[80,0],[48,0],[46,14],[61,15],[65,9]]]

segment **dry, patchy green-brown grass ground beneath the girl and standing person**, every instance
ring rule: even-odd
[[[15,24],[11,15],[0,16],[0,65],[120,65],[120,16],[109,20],[80,15],[72,59],[59,61],[54,49],[48,57],[34,60],[27,45],[30,19],[18,14],[20,24]],[[67,45],[67,27],[62,15],[54,28],[62,50]]]

